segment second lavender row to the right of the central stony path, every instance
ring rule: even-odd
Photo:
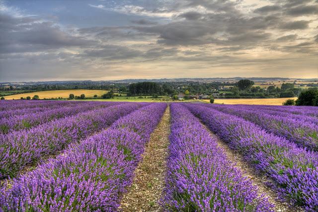
[[[270,176],[281,198],[318,211],[318,153],[297,147],[236,115],[185,104],[256,169]]]

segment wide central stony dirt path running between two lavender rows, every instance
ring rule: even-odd
[[[119,211],[163,212],[159,200],[165,187],[165,159],[168,155],[170,117],[168,106],[146,145],[144,159],[135,171],[132,187],[123,195]]]

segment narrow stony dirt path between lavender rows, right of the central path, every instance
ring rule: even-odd
[[[279,201],[277,192],[266,185],[266,183],[272,183],[270,179],[268,179],[264,175],[258,174],[255,168],[250,166],[244,160],[243,156],[239,154],[239,152],[237,152],[234,149],[231,149],[226,142],[224,142],[219,136],[214,134],[206,125],[202,125],[206,130],[210,132],[210,135],[212,137],[216,138],[218,146],[224,149],[228,158],[232,162],[236,163],[235,167],[241,170],[242,175],[252,180],[252,184],[258,187],[258,194],[266,194],[266,197],[268,197],[269,202],[275,205],[275,212],[304,212],[304,210],[302,210],[301,208],[291,207],[288,203]]]

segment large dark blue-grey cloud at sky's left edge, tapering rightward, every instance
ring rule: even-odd
[[[35,52],[70,46],[90,46],[96,41],[67,34],[54,22],[36,18],[1,16],[0,53]]]

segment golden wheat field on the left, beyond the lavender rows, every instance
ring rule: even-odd
[[[40,99],[51,99],[51,98],[69,98],[70,94],[74,94],[74,96],[80,96],[81,94],[84,94],[85,97],[93,97],[94,95],[97,95],[97,97],[101,97],[101,95],[106,94],[108,91],[101,91],[101,90],[58,90],[58,91],[39,91],[39,92],[33,92],[33,93],[26,93],[26,94],[16,94],[16,95],[10,95],[4,97],[6,100],[19,100],[21,97],[34,97],[34,95],[38,95]]]

